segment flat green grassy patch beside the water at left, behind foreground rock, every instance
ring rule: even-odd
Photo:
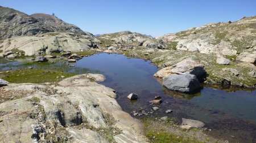
[[[9,81],[10,83],[51,83],[63,80],[60,76],[65,76],[66,78],[76,75],[75,73],[46,71],[42,69],[15,70],[2,74],[2,79]]]

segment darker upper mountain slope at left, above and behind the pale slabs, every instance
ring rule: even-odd
[[[7,7],[0,7],[0,29],[0,38],[34,36],[47,32],[88,34],[75,25],[56,18],[56,16],[47,14],[33,14],[30,16]]]

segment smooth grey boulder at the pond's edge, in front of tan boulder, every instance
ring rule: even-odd
[[[163,79],[163,86],[177,92],[191,93],[200,88],[199,80],[195,75],[172,75]]]

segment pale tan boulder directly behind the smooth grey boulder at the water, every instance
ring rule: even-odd
[[[193,60],[192,58],[187,58],[179,63],[176,63],[174,66],[162,68],[156,72],[154,76],[164,79],[169,75],[183,74],[192,74],[200,79],[205,74],[204,65],[196,60]]]

